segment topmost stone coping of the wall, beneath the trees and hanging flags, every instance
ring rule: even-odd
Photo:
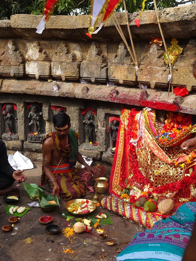
[[[196,4],[166,8],[160,13],[160,22],[164,36],[166,38],[188,38],[196,36]],[[122,26],[125,37],[129,39],[127,32],[126,19],[124,13],[116,13],[119,23]],[[159,37],[159,27],[155,16],[155,11],[144,11],[141,17],[141,25],[138,28],[134,20],[139,17],[139,12],[129,14],[130,27],[133,37],[138,39],[149,39],[152,35]],[[11,20],[0,21],[1,37],[22,37],[29,39],[51,39],[53,37],[62,39],[84,39],[91,40],[85,35],[88,32],[88,15],[74,16],[52,16],[46,22],[46,29],[41,35],[37,34],[36,26],[41,20],[41,15],[15,14]],[[93,35],[93,39],[99,40],[121,40],[118,32],[109,18],[100,33]]]

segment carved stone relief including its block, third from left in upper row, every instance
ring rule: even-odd
[[[80,78],[80,64],[82,60],[82,48],[80,44],[72,43],[71,51],[64,41],[52,57],[52,76],[62,80],[78,80]]]

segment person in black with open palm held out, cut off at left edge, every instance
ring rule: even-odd
[[[15,180],[18,183],[25,182],[27,177],[22,174],[23,171],[13,169],[8,162],[8,155],[5,143],[0,140],[0,195],[9,192],[19,192],[19,188],[12,186]]]

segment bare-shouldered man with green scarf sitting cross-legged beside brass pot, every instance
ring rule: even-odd
[[[55,132],[43,141],[41,186],[50,182],[52,195],[61,195],[65,201],[84,196],[86,189],[93,192],[90,180],[106,174],[104,166],[89,166],[78,152],[79,134],[71,128],[70,117],[57,113],[53,117]],[[76,168],[76,162],[84,168]]]

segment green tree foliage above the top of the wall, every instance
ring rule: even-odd
[[[141,9],[143,0],[125,0],[127,11],[133,13]],[[157,0],[160,9],[189,3],[186,0]],[[44,0],[0,0],[0,20],[10,19],[12,14],[42,14]],[[60,0],[53,15],[79,15],[89,14],[90,0]],[[152,0],[146,1],[145,10],[153,10]],[[117,11],[124,10],[121,4]]]

